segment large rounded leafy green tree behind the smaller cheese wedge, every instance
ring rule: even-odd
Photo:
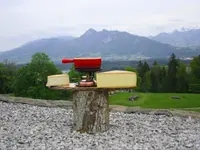
[[[18,70],[14,93],[16,96],[41,99],[63,98],[67,92],[53,91],[46,87],[47,76],[60,73],[48,55],[36,53],[29,64]]]

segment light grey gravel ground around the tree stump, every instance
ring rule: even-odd
[[[110,129],[71,130],[72,110],[0,102],[0,149],[200,150],[200,119],[110,113]]]

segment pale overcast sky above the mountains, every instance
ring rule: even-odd
[[[200,0],[0,0],[0,52],[89,28],[141,36],[200,28]]]

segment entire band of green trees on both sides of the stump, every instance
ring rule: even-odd
[[[135,68],[123,69],[137,73],[136,90],[140,92],[200,92],[200,55],[189,64],[172,54],[167,65],[160,65],[156,61],[149,65],[146,61],[139,61]],[[0,94],[68,99],[71,96],[69,91],[55,91],[46,87],[47,76],[61,73],[45,53],[34,54],[31,61],[20,68],[13,62],[4,61],[0,63]],[[79,81],[83,75],[76,72],[73,66],[68,74],[72,82]]]

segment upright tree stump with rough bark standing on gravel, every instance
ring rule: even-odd
[[[97,133],[108,128],[108,90],[73,91],[73,130]]]

